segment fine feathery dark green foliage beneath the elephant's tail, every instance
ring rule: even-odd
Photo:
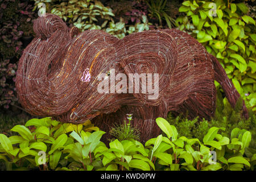
[[[255,114],[249,107],[249,119],[241,118],[240,109],[242,107],[243,100],[237,101],[236,107],[233,109],[226,98],[222,98],[221,92],[217,92],[217,108],[215,111],[215,116],[210,121],[203,119],[199,121],[198,118],[193,119],[192,121],[185,117],[174,117],[171,113],[168,114],[167,121],[171,125],[177,127],[179,131],[179,136],[185,136],[187,138],[199,138],[203,139],[204,135],[210,129],[210,127],[220,127],[225,128],[225,131],[222,131],[222,135],[225,137],[230,136],[231,131],[238,127],[240,129],[249,130],[253,137],[250,147],[256,147],[255,138],[256,138],[256,121]]]

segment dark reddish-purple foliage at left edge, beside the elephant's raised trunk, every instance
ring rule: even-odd
[[[15,96],[15,75],[24,48],[22,38],[32,35],[32,19],[36,18],[29,3],[0,2],[0,107],[5,109],[18,101]]]

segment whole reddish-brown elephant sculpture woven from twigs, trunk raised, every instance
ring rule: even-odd
[[[168,111],[210,119],[216,109],[214,80],[233,107],[240,97],[216,57],[179,30],[143,31],[117,39],[100,30],[79,33],[58,16],[46,14],[35,20],[34,31],[16,75],[20,104],[28,113],[61,122],[91,119],[107,132],[105,139],[126,114],[133,114],[131,124],[141,131],[142,142],[160,133],[155,118],[167,117]],[[131,74],[158,74],[158,97],[150,99],[152,93],[137,92],[135,86],[117,87],[120,73],[127,83],[134,81]],[[99,84],[109,79],[107,92],[99,92]],[[142,77],[137,84],[142,85]],[[247,118],[244,103],[242,110]]]

